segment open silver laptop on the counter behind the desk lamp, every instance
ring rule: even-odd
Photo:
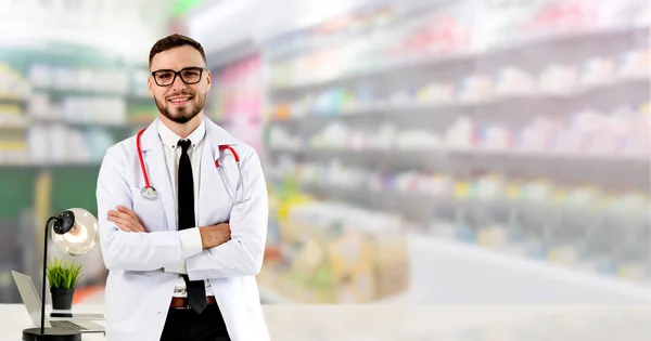
[[[41,313],[41,300],[38,296],[38,291],[34,286],[34,281],[31,277],[21,274],[16,271],[12,271],[11,274],[14,277],[14,281],[18,287],[18,291],[21,293],[21,298],[23,299],[23,303],[27,309],[27,313],[29,313],[29,318],[36,327],[40,327],[40,313]],[[68,330],[77,330],[80,332],[105,332],[105,327],[90,322],[90,320],[80,320],[73,318],[56,318],[49,319],[48,316],[44,318],[46,328],[54,327],[60,329],[68,329]]]

